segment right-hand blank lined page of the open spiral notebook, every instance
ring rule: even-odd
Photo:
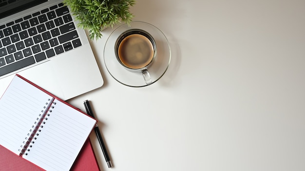
[[[96,120],[58,101],[28,155],[47,171],[69,171]]]

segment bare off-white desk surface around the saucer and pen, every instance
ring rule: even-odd
[[[92,101],[111,171],[304,171],[305,1],[138,0],[134,21],[160,28],[172,63],[133,88],[105,68]],[[101,171],[110,171],[95,134]]]

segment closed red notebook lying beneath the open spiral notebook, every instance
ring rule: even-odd
[[[0,145],[0,171],[44,171]],[[78,154],[70,171],[100,171],[90,139]]]

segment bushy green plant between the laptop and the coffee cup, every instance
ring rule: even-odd
[[[129,8],[135,0],[63,0],[78,21],[78,27],[89,30],[90,39],[102,36],[104,28],[124,22],[130,24],[133,15]]]

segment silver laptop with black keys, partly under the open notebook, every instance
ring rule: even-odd
[[[62,0],[0,0],[0,96],[17,73],[62,100],[104,83]]]

